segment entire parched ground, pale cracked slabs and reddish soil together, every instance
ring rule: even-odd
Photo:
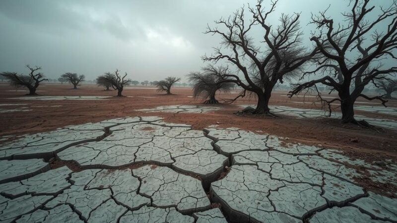
[[[0,86],[0,221],[397,222],[397,100],[358,101],[374,130],[286,92],[270,118],[190,88]]]

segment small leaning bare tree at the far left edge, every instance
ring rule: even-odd
[[[43,76],[43,73],[34,73],[41,69],[41,67],[36,66],[35,68],[26,65],[30,70],[29,75],[17,74],[16,72],[2,72],[0,73],[5,79],[7,79],[11,85],[15,87],[26,87],[29,89],[29,94],[27,95],[37,95],[36,89],[39,87],[42,81],[48,81]]]

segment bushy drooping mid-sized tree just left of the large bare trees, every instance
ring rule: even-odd
[[[229,74],[228,67],[208,65],[202,72],[192,72],[188,75],[189,82],[193,83],[193,97],[207,99],[205,104],[218,104],[215,99],[217,91],[228,92],[232,88],[231,82],[222,82],[223,75]],[[186,86],[186,84],[185,84]]]

